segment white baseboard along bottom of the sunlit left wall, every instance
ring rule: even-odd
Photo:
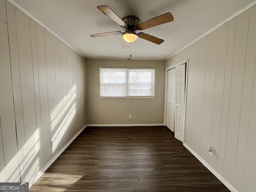
[[[85,125],[77,134],[36,174],[32,180],[29,181],[29,188],[44,174],[44,172],[51,166],[51,164],[64,152],[64,150],[75,140],[75,138],[86,128]]]

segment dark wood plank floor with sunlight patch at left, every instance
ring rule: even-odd
[[[86,127],[30,192],[229,192],[165,126]]]

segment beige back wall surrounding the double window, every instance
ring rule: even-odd
[[[100,98],[100,67],[156,68],[156,98]],[[87,124],[163,124],[164,76],[164,60],[86,59]]]

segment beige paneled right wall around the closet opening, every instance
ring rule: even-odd
[[[255,58],[253,6],[166,61],[188,59],[185,144],[240,192],[256,191]]]

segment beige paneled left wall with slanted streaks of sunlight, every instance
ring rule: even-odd
[[[85,59],[5,0],[0,42],[0,182],[30,182],[86,125]]]

